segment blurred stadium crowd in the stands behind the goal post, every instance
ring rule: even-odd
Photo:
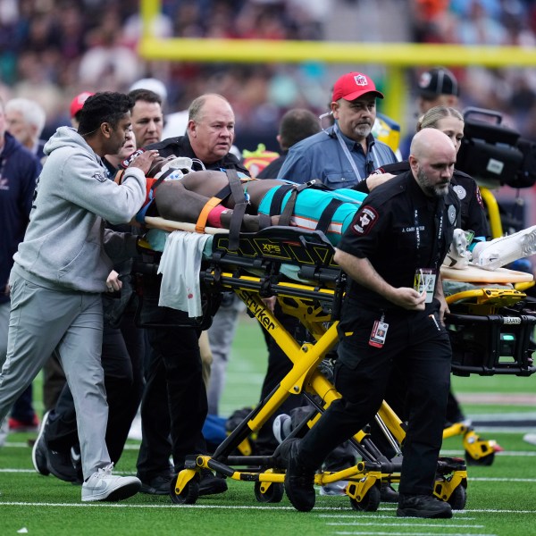
[[[532,46],[536,41],[536,6],[529,0],[176,0],[163,1],[162,6],[154,28],[161,37],[518,46]],[[396,16],[381,18],[386,11]],[[356,31],[369,23],[374,25],[373,32]],[[150,76],[162,80],[167,88],[164,112],[184,110],[207,91],[220,93],[230,98],[235,110],[239,147],[255,148],[258,138],[277,150],[273,138],[283,113],[295,107],[322,113],[331,90],[329,80],[342,71],[360,70],[358,65],[345,69],[321,63],[141,61],[136,52],[140,35],[138,3],[3,0],[0,95],[36,99],[46,111],[47,138],[69,121],[64,103],[81,91],[126,91],[133,81]],[[460,80],[461,108],[473,105],[497,110],[524,136],[533,138],[533,70],[453,70]],[[406,72],[413,93],[421,71]],[[385,88],[387,73],[374,68],[372,74]],[[413,113],[412,100],[411,95],[406,96],[407,108]],[[405,126],[406,118],[394,119]]]

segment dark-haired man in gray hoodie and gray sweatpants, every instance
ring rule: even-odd
[[[105,443],[108,406],[100,361],[101,293],[113,261],[136,255],[136,237],[105,230],[105,221],[130,222],[146,196],[145,174],[156,151],[130,164],[121,186],[107,180],[102,157],[130,132],[133,102],[97,93],[82,109],[78,131],[60,127],[48,156],[24,241],[13,256],[7,356],[0,373],[0,420],[59,353],[77,413],[84,483],[82,501],[120,500],[138,492],[135,477],[112,474]]]

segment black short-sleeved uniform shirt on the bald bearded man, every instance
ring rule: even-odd
[[[445,197],[426,197],[412,172],[406,172],[364,199],[338,248],[367,258],[393,287],[413,288],[416,269],[439,272],[459,227],[459,212],[459,199],[451,187]],[[372,309],[397,308],[352,280],[347,297]]]

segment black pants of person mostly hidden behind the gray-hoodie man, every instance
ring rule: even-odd
[[[114,464],[121,457],[141,400],[143,355],[142,331],[136,327],[132,314],[123,316],[119,328],[105,324],[102,364],[109,406],[106,446]],[[68,450],[78,442],[74,402],[66,383],[49,414],[45,440],[48,448],[53,450]]]

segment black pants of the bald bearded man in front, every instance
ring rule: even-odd
[[[383,348],[368,344],[374,320],[364,308],[351,329],[341,330],[334,401],[300,446],[300,462],[316,469],[331,450],[373,421],[381,406],[393,361],[407,381],[408,428],[403,444],[399,491],[431,494],[442,442],[451,351],[448,333],[430,318],[433,310],[386,314],[389,331]],[[436,312],[437,320],[437,312]]]

